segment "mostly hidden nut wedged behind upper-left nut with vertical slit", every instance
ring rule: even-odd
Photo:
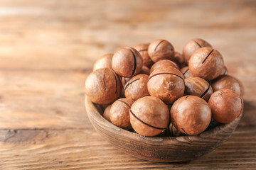
[[[139,44],[139,45],[135,45],[134,49],[137,50],[142,55],[143,65],[146,67],[151,67],[152,64],[154,64],[154,62],[149,57],[148,47],[149,47],[149,43]]]

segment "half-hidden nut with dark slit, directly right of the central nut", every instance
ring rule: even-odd
[[[205,79],[200,77],[189,77],[185,79],[184,95],[198,96],[208,101],[212,94],[213,89]]]

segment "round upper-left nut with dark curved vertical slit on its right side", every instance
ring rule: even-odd
[[[142,70],[142,55],[133,47],[121,47],[114,52],[112,68],[122,77],[133,77]]]

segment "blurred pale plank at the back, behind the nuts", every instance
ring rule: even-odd
[[[200,37],[220,50],[228,65],[251,72],[256,62],[254,5],[252,0],[127,5],[119,1],[1,1],[0,67],[82,69],[120,46],[165,38],[181,52],[188,40]],[[241,56],[251,62],[238,62]]]

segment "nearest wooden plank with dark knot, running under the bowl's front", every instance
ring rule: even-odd
[[[27,131],[27,132],[24,132]],[[37,133],[37,135],[35,135]],[[23,140],[21,134],[30,136]],[[8,137],[6,137],[8,136]],[[7,139],[8,138],[8,139]],[[256,128],[238,128],[215,151],[188,163],[148,162],[119,152],[95,130],[0,130],[1,169],[253,169]]]

